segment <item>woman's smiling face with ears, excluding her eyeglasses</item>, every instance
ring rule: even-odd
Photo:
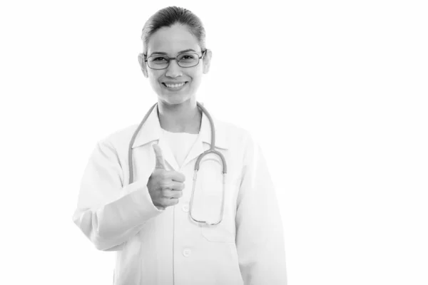
[[[147,57],[162,53],[162,56],[166,54],[170,58],[175,58],[183,51],[198,53],[198,56],[203,54],[198,39],[190,33],[187,26],[175,24],[160,28],[148,40]],[[141,70],[149,79],[158,100],[168,105],[195,102],[202,76],[208,73],[210,58],[211,51],[206,51],[197,66],[183,68],[178,66],[177,61],[172,60],[168,68],[155,70],[148,67],[142,54],[138,56]]]

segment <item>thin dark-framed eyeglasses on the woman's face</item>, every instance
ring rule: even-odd
[[[202,56],[199,56],[198,53],[180,53],[175,58],[170,58],[169,56],[163,56],[156,54],[155,56],[149,56],[144,61],[146,61],[149,68],[160,70],[168,68],[170,61],[175,59],[178,66],[180,67],[193,67],[199,64],[200,58],[205,56],[205,51],[203,51]],[[146,55],[144,55],[146,57]]]

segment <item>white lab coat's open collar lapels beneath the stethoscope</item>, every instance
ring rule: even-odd
[[[211,118],[213,118],[215,128],[215,147],[227,150],[228,140],[226,138],[226,130],[224,123],[216,120],[213,115],[211,115]],[[163,131],[161,128],[161,124],[159,123],[158,107],[156,106],[155,108],[153,108],[151,114],[148,116],[146,123],[144,123],[143,127],[141,127],[141,130],[138,133],[136,140],[133,142],[132,147],[135,148],[142,145],[146,145],[146,143],[148,142],[153,142],[154,140],[161,140],[162,137]],[[208,143],[208,145],[211,144],[210,120],[205,115],[205,113],[202,113],[199,136],[198,140],[196,141],[196,144],[198,144],[198,142],[200,141]],[[202,147],[202,144],[200,144],[200,147]]]

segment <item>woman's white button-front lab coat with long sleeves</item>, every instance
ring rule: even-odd
[[[210,147],[205,114],[195,145],[178,167],[154,108],[133,143],[131,185],[128,145],[137,125],[96,145],[73,222],[97,249],[116,251],[115,285],[286,284],[282,222],[260,148],[247,131],[213,120],[216,149],[228,167],[223,221],[216,226],[203,226],[189,216],[195,161]],[[186,178],[183,197],[165,210],[153,205],[146,186],[156,163],[154,143],[163,150],[167,170]],[[219,217],[219,162],[210,155],[200,164],[193,202],[197,219]]]

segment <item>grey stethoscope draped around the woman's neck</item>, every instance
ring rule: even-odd
[[[143,127],[144,123],[146,123],[146,120],[147,120],[148,116],[151,114],[151,112],[156,107],[156,105],[157,105],[157,103],[155,103],[150,108],[150,110],[148,110],[147,114],[144,116],[143,120],[141,121],[140,125],[138,125],[137,130],[135,131],[135,133],[133,134],[133,136],[131,138],[131,142],[129,144],[129,149],[128,149],[129,184],[131,184],[133,182],[133,160],[132,160],[132,145],[133,145],[133,142],[134,142],[134,140],[136,140],[136,137],[137,137],[138,133],[140,132],[141,127]],[[200,108],[200,110],[202,110],[202,112],[205,113],[205,115],[208,117],[208,120],[210,121],[211,146],[210,146],[209,150],[205,150],[205,152],[203,152],[202,154],[200,154],[198,156],[198,159],[195,162],[195,174],[193,175],[193,187],[192,187],[192,195],[190,197],[190,211],[189,212],[190,212],[190,218],[193,219],[193,221],[201,223],[201,224],[206,224],[206,225],[209,225],[209,226],[213,226],[215,224],[220,224],[220,222],[223,219],[223,211],[224,211],[224,207],[225,207],[225,181],[226,181],[226,172],[228,172],[228,166],[226,165],[226,160],[225,160],[225,157],[223,156],[223,154],[221,152],[219,152],[218,150],[215,150],[215,129],[214,129],[213,118],[211,118],[210,113],[208,113],[208,111],[203,107],[203,105],[201,105],[199,102],[197,102],[196,105],[198,105],[198,108]],[[220,159],[222,161],[222,166],[223,166],[223,195],[222,195],[222,202],[221,202],[220,217],[219,217],[219,219],[218,219],[217,222],[207,222],[207,221],[198,220],[198,219],[193,218],[193,215],[192,215],[193,196],[195,194],[196,177],[198,176],[199,163],[200,163],[200,160],[202,160],[202,158],[205,155],[208,155],[210,153],[218,155],[218,157],[220,157]]]

